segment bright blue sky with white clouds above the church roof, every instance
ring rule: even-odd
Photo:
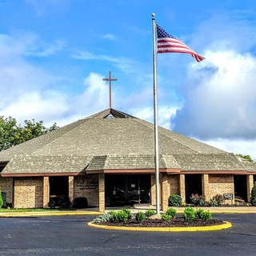
[[[153,122],[151,13],[206,60],[158,54],[159,125],[256,159],[254,0],[0,0],[0,115],[64,126],[109,106]]]

